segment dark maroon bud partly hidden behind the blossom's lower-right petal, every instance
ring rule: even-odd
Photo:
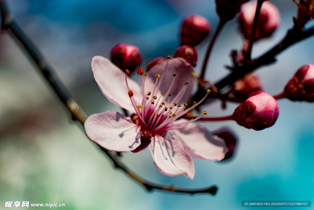
[[[236,145],[238,141],[236,135],[229,128],[221,128],[217,131],[214,131],[213,134],[224,139],[226,146],[229,149],[228,152],[225,154],[225,158],[222,159],[222,161],[232,157],[236,150]]]

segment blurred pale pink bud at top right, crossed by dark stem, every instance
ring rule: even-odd
[[[245,3],[241,7],[239,23],[241,32],[246,39],[251,37],[256,7],[257,1]],[[270,37],[279,24],[280,13],[277,7],[270,2],[264,2],[257,20],[254,41]]]

